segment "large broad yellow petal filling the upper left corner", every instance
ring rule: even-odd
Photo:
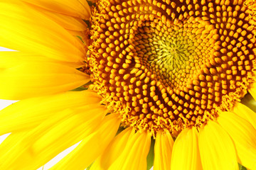
[[[18,2],[0,2],[0,11],[0,46],[65,62],[85,59],[80,40],[38,11]]]

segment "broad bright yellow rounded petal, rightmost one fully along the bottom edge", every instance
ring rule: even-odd
[[[238,169],[233,141],[218,123],[208,121],[200,130],[199,149],[203,169]]]

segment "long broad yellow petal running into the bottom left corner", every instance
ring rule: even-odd
[[[102,106],[84,106],[54,115],[17,145],[9,146],[9,152],[0,151],[0,169],[38,169],[59,152],[95,132],[106,113]]]

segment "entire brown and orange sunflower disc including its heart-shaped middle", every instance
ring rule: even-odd
[[[229,111],[255,79],[251,1],[100,0],[92,13],[94,89],[124,126],[169,130]]]

